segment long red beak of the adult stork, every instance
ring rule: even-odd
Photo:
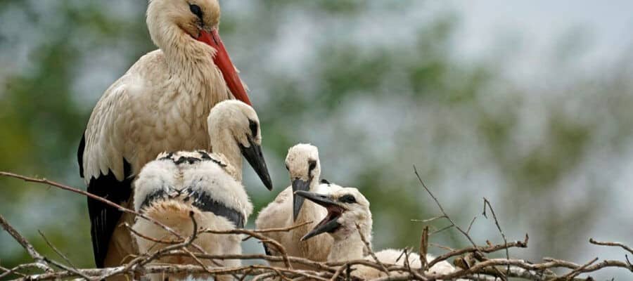
[[[215,63],[220,72],[222,72],[222,77],[224,77],[224,81],[226,81],[226,86],[229,87],[229,90],[231,90],[231,93],[233,93],[235,98],[252,106],[250,99],[248,99],[248,94],[246,94],[246,90],[242,84],[242,80],[235,70],[233,63],[231,63],[229,53],[226,52],[224,44],[222,44],[222,39],[219,38],[217,29],[211,30],[211,33],[206,32],[205,30],[200,31],[198,41],[204,42],[205,44],[215,48],[217,52],[213,58],[213,63]]]

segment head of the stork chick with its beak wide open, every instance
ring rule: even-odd
[[[328,210],[328,215],[302,237],[302,241],[321,233],[329,233],[335,240],[344,240],[351,235],[358,235],[357,225],[366,239],[371,240],[369,201],[356,188],[340,188],[327,195],[307,191],[298,191],[296,194]]]

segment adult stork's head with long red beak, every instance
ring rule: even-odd
[[[233,96],[251,105],[242,81],[219,37],[220,8],[217,0],[149,0],[147,26],[152,41],[163,51],[181,52],[181,46],[210,46],[213,62],[222,72]]]

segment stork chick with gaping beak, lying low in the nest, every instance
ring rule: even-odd
[[[333,237],[334,240],[328,255],[329,262],[357,259],[373,260],[373,257],[368,256],[369,251],[360,235],[363,233],[365,240],[371,245],[371,211],[369,211],[369,201],[361,192],[356,188],[340,188],[332,190],[327,195],[306,191],[297,191],[296,193],[327,209],[326,217],[301,240],[309,240],[312,237],[319,237],[321,233],[328,233],[328,236]],[[402,250],[385,249],[376,253],[376,257],[381,263],[404,266],[404,259],[398,259],[400,256],[402,256]],[[434,258],[427,255],[426,259],[430,261]],[[420,257],[417,254],[410,254],[408,261],[411,268],[421,267]],[[444,274],[452,273],[453,270],[454,268],[450,263],[442,261],[430,268],[428,273]],[[358,266],[352,275],[366,280],[386,276],[381,270],[368,266]]]

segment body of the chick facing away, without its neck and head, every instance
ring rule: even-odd
[[[222,155],[215,153],[163,153],[144,166],[138,179],[134,181],[134,209],[164,223],[183,237],[189,237],[193,233],[190,212],[193,212],[199,229],[242,228],[252,213],[252,204],[241,183],[226,168],[231,169],[232,166]],[[133,229],[158,240],[177,240],[172,233],[141,218],[136,219]],[[168,246],[140,236],[136,236],[136,242],[141,254]],[[241,235],[203,233],[198,235],[195,243],[208,254],[242,253]],[[191,250],[194,250],[193,247]],[[196,264],[193,259],[183,256],[163,257],[156,262]],[[203,262],[206,266],[215,266],[209,260]],[[221,266],[241,264],[239,260],[222,260],[217,263]],[[186,274],[170,277],[182,280]],[[156,274],[151,279],[165,280],[165,276]],[[224,276],[224,279],[230,277]]]

